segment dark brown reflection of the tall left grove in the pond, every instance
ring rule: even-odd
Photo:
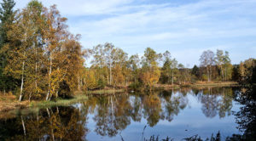
[[[87,132],[86,116],[71,107],[39,110],[37,115],[9,120],[0,123],[1,140],[83,140]],[[11,129],[2,130],[5,127]]]

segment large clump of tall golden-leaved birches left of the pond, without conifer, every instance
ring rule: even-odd
[[[83,52],[66,21],[55,6],[44,8],[32,0],[8,26],[9,42],[1,50],[7,54],[5,73],[20,80],[20,100],[50,100],[62,89],[79,89]]]

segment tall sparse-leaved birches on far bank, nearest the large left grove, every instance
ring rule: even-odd
[[[92,67],[98,68],[101,73],[101,81],[108,80],[110,86],[115,87],[124,83],[126,77],[127,54],[121,48],[115,48],[112,43],[106,42],[104,45],[97,45],[90,49],[92,56]],[[108,70],[106,70],[108,69]],[[108,72],[108,75],[104,75]]]

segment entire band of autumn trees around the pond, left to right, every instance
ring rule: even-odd
[[[233,65],[228,51],[206,50],[192,68],[178,63],[172,50],[143,56],[127,54],[113,43],[83,48],[68,31],[56,5],[32,0],[15,10],[14,0],[0,8],[0,91],[22,100],[66,98],[76,92],[129,88],[152,91],[157,85],[189,86],[207,82],[256,82],[256,59]]]

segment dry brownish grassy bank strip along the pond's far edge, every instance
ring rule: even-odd
[[[195,83],[195,84],[188,84],[188,85],[167,85],[167,84],[156,84],[154,85],[154,90],[170,90],[170,89],[177,89],[183,87],[232,87],[238,86],[237,82],[203,82],[203,83]],[[120,88],[120,89],[102,89],[102,90],[94,90],[94,91],[87,91],[86,93],[77,92],[78,94],[74,95],[72,99],[56,99],[55,101],[18,101],[15,99],[14,95],[11,96],[2,96],[0,97],[0,114],[4,112],[8,112],[10,110],[20,110],[26,108],[45,108],[51,107],[56,105],[68,105],[73,104],[79,101],[83,101],[88,99],[88,95],[108,95],[112,93],[123,93],[127,90],[127,88]],[[9,100],[10,99],[10,100]]]

